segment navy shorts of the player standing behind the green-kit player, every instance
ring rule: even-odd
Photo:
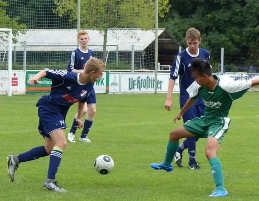
[[[180,105],[182,109],[184,105]],[[205,104],[192,105],[186,112],[183,114],[182,119],[183,123],[186,123],[194,118],[204,116]]]

